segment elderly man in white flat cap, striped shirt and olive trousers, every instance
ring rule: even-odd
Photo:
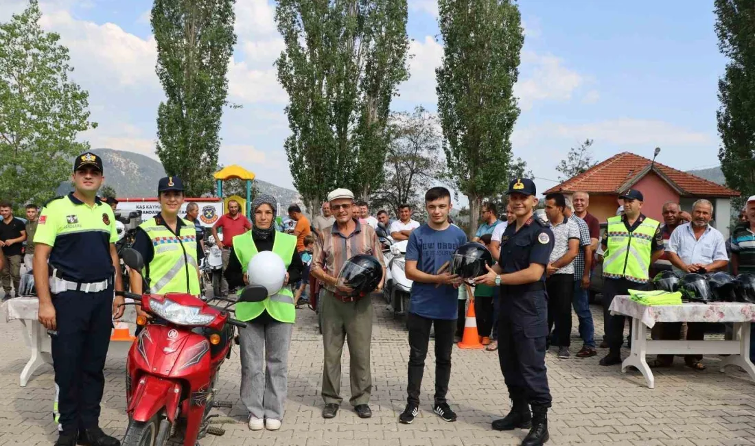
[[[323,418],[334,418],[341,406],[341,352],[344,340],[349,341],[351,399],[360,418],[369,418],[368,405],[372,392],[370,345],[372,338],[372,303],[369,296],[341,297],[337,277],[341,267],[356,254],[370,254],[383,266],[380,242],[371,226],[359,223],[359,209],[354,194],[348,189],[335,189],[328,194],[333,226],[320,231],[312,259],[310,274],[325,284],[322,296],[322,343],[325,364],[322,370]],[[377,289],[383,288],[383,280]]]

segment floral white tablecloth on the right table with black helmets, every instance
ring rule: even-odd
[[[631,300],[629,296],[616,296],[609,310],[639,319],[649,328],[653,328],[655,322],[755,322],[753,303],[716,302],[647,306]]]

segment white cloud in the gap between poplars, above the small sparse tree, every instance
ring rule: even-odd
[[[408,81],[399,85],[400,97],[396,98],[408,103],[437,103],[435,69],[443,60],[443,46],[430,35],[424,41],[409,42],[412,57],[408,60]]]

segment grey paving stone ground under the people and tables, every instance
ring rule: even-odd
[[[234,349],[223,365],[219,399],[233,401],[221,413],[228,423],[223,437],[202,439],[210,445],[351,445],[442,446],[519,444],[526,432],[495,432],[490,423],[510,408],[498,355],[454,347],[448,400],[458,413],[456,423],[433,414],[433,355],[428,355],[422,385],[421,414],[410,426],[398,423],[405,405],[407,333],[394,321],[385,303],[374,297],[372,341],[373,392],[370,420],[356,417],[348,404],[349,355],[344,349],[341,392],[344,405],[334,420],[320,416],[322,341],[316,315],[298,310],[288,368],[288,404],[282,429],[251,432],[239,401],[239,356]],[[594,306],[596,337],[602,334],[602,310]],[[5,310],[0,314],[5,321]],[[716,356],[706,356],[707,370],[674,368],[655,371],[655,389],[648,389],[637,371],[621,374],[618,366],[600,367],[600,354],[580,359],[575,318],[572,358],[547,355],[553,394],[548,444],[755,444],[755,384],[744,372],[729,368],[719,373]],[[18,321],[0,322],[0,446],[52,444],[57,436],[51,417],[54,381],[49,366],[41,368],[26,388],[18,386],[29,351]],[[430,346],[430,352],[432,352]],[[627,355],[624,351],[624,356]],[[112,435],[125,432],[125,358],[109,358],[100,424]]]

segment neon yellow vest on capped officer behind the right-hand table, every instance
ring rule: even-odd
[[[609,218],[608,223],[608,249],[603,254],[603,277],[646,283],[649,279],[652,241],[661,223],[645,217],[632,232],[627,230],[620,215]]]

